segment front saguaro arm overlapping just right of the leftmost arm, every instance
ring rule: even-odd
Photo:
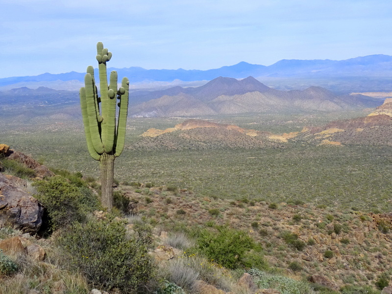
[[[94,81],[90,74],[86,74],[84,77],[85,92],[86,92],[86,105],[87,105],[87,117],[90,127],[90,137],[92,145],[98,154],[103,153],[102,141],[100,138],[96,102],[94,95]]]

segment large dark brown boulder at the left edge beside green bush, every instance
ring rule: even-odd
[[[0,174],[0,228],[11,226],[24,233],[36,233],[42,225],[43,206]]]

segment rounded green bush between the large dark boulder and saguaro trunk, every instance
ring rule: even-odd
[[[34,195],[46,208],[48,231],[82,221],[87,213],[98,208],[98,199],[86,187],[78,187],[61,176],[33,184],[38,192]]]

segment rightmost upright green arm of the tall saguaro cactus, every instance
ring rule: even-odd
[[[115,157],[120,156],[124,149],[125,143],[125,129],[126,129],[126,118],[128,116],[128,100],[129,100],[129,81],[127,78],[123,78],[121,87],[119,90],[119,122],[117,124],[117,133],[115,138],[116,153]]]

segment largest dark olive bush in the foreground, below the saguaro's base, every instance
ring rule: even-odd
[[[119,288],[121,293],[142,292],[154,276],[148,254],[151,230],[135,224],[135,234],[129,236],[124,225],[115,220],[73,224],[57,239],[64,263],[76,266],[95,287]]]

